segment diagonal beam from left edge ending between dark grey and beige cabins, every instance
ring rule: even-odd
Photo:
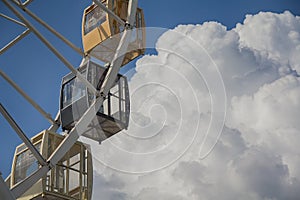
[[[44,111],[37,103],[33,101],[13,80],[11,80],[2,70],[0,75],[17,91],[19,92],[37,111],[39,111],[51,124],[56,124],[51,115]]]

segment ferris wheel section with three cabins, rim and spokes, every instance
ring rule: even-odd
[[[11,174],[0,175],[0,199],[78,199],[92,196],[93,165],[89,146],[80,136],[101,143],[127,129],[130,99],[127,78],[120,68],[145,51],[145,22],[137,0],[93,0],[82,17],[83,50],[31,12],[32,0],[2,0],[17,19],[0,13],[12,23],[24,26],[23,33],[0,49],[0,55],[29,33],[33,33],[70,70],[62,78],[60,105],[52,118],[10,77],[1,77],[19,92],[50,127],[28,138],[0,103],[0,112],[23,143],[16,147]],[[26,14],[26,15],[24,15]],[[29,16],[82,57],[74,67],[25,17]],[[106,63],[101,66],[97,60]],[[63,133],[58,133],[62,130]]]

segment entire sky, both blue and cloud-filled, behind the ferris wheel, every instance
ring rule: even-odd
[[[175,2],[140,2],[152,42],[134,68],[123,70],[131,77],[128,130],[102,145],[90,142],[93,199],[299,199],[299,4]],[[69,7],[79,12],[85,5]],[[70,29],[78,25],[72,21]],[[80,46],[79,33],[60,30]],[[28,53],[24,44],[30,42],[35,45]],[[1,56],[0,67],[54,115],[68,70],[37,44],[29,37]],[[67,54],[74,65],[76,56]],[[29,136],[47,128],[3,80],[0,87],[1,103]],[[19,141],[0,119],[1,150],[11,151],[0,157],[7,175]]]

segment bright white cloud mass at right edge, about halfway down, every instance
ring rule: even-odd
[[[232,98],[232,121],[257,132],[300,130],[300,78],[287,75],[255,94]]]

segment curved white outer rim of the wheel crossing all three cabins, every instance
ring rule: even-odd
[[[7,3],[6,0],[4,1],[8,7],[11,7]],[[136,7],[137,7],[137,0],[129,0],[129,6],[128,6],[128,23],[134,24],[134,17],[136,14]],[[14,10],[13,8],[11,8]],[[19,13],[15,13],[19,18],[22,16]],[[27,21],[24,21],[28,23]],[[28,26],[28,24],[26,24]],[[31,25],[31,24],[29,24]],[[111,67],[106,75],[105,82],[102,85],[101,88],[101,94],[100,96],[97,96],[94,103],[88,108],[88,110],[84,113],[84,115],[79,119],[79,121],[75,124],[75,126],[71,129],[69,134],[64,138],[64,140],[60,143],[58,148],[52,153],[52,155],[47,160],[47,165],[42,166],[39,168],[36,172],[34,172],[31,176],[24,179],[22,182],[18,183],[16,186],[11,188],[11,192],[14,194],[16,198],[20,197],[22,194],[24,194],[33,184],[35,184],[41,177],[47,174],[51,168],[53,168],[59,160],[70,150],[70,148],[74,145],[74,143],[78,140],[78,138],[84,133],[87,126],[91,123],[93,118],[96,116],[96,113],[100,109],[100,106],[103,104],[103,100],[105,96],[107,96],[109,90],[113,86],[114,81],[117,78],[120,66],[123,62],[125,53],[127,51],[130,37],[131,37],[131,29],[130,26],[126,26],[124,34],[122,35],[122,38],[120,40],[120,43],[118,45],[116,54],[114,56],[114,59],[111,63]],[[29,28],[32,28],[32,26],[29,26]],[[34,29],[33,29],[34,30]],[[34,33],[38,35],[38,37],[44,42],[44,39],[39,35],[39,33],[35,30]],[[45,43],[45,42],[44,42]],[[48,46],[48,45],[47,45]],[[76,70],[77,71],[77,70]],[[79,73],[77,71],[77,73]],[[77,74],[75,74],[77,75]]]

